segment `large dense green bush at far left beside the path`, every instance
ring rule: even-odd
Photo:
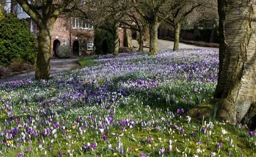
[[[34,65],[37,49],[27,21],[7,14],[0,19],[0,28],[0,66],[9,66],[12,59]]]

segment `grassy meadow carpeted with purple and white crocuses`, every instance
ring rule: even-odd
[[[97,56],[0,84],[3,156],[255,156],[256,132],[185,113],[212,98],[218,51]]]

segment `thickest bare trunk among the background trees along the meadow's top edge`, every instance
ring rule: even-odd
[[[150,23],[150,53],[149,55],[157,55],[157,32],[159,27],[157,17]]]

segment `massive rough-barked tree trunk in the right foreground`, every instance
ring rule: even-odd
[[[220,99],[217,116],[240,122],[256,103],[255,1],[218,0],[220,64],[214,97]]]

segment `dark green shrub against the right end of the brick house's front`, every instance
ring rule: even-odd
[[[112,34],[103,29],[95,29],[94,31],[94,45],[96,54],[112,54],[114,51],[114,39]]]

